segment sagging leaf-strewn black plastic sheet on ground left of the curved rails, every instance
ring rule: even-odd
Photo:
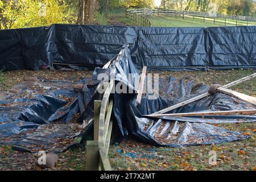
[[[1,94],[0,144],[13,144],[22,151],[38,151],[38,146],[44,146],[44,150],[55,152],[76,144],[76,133],[85,126],[86,133],[92,127],[92,121],[74,123],[94,94],[94,88],[86,86],[88,81],[22,82],[14,86],[19,93]],[[85,84],[84,89],[74,90],[75,84]]]

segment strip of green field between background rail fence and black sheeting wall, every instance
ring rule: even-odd
[[[174,17],[164,17],[164,16],[148,16],[147,17],[152,27],[217,27],[217,26],[225,26],[224,19],[216,19],[214,24],[213,19],[201,17],[193,18],[186,17],[183,18],[174,18]],[[238,21],[237,26],[246,26],[247,22]],[[249,22],[248,25],[256,25],[256,22]],[[226,26],[236,26],[236,20],[226,20]]]

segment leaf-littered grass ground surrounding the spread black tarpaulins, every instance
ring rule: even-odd
[[[156,73],[156,72],[154,72]],[[175,76],[182,78],[191,75],[197,82],[208,85],[221,84],[237,80],[255,70],[230,70],[209,72],[157,72],[160,77]],[[78,81],[79,78],[88,77],[90,71],[13,71],[0,72],[0,90],[8,90],[23,78],[38,76],[47,79]],[[256,78],[233,86],[232,90],[256,96]],[[129,138],[121,144],[112,144],[109,149],[109,158],[115,170],[255,170],[256,169],[256,123],[218,124],[228,130],[239,131],[250,136],[250,139],[223,143],[210,146],[193,146],[183,148],[154,147]],[[217,164],[208,163],[209,151],[216,151]],[[121,151],[116,152],[116,151]],[[125,154],[134,154],[127,156]],[[85,170],[86,169],[86,144],[79,148],[62,152],[59,155],[57,166],[51,170]],[[0,171],[7,169],[42,170],[35,166],[38,156],[26,152],[18,152],[11,146],[0,146]]]

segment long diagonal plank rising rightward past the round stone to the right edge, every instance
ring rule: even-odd
[[[234,85],[240,84],[241,82],[250,80],[251,78],[254,78],[254,77],[256,77],[256,73],[254,73],[253,75],[250,75],[250,76],[243,77],[243,78],[241,78],[241,79],[239,79],[239,80],[230,82],[229,84],[226,84],[226,85],[224,85],[224,86],[222,86],[222,87],[224,87],[224,88],[229,88],[230,86],[234,86]],[[166,109],[159,110],[159,111],[157,111],[157,112],[155,112],[155,113],[152,113],[152,114],[150,114],[150,115],[167,113],[168,111],[177,109],[178,107],[187,105],[187,104],[189,104],[189,103],[191,103],[191,102],[200,100],[201,98],[204,98],[204,97],[207,97],[207,96],[210,96],[210,93],[208,93],[208,92],[207,92],[207,93],[203,93],[203,94],[201,94],[201,95],[199,95],[199,96],[190,98],[190,99],[188,99],[188,100],[186,100],[186,101],[180,102],[180,103],[175,104],[175,105],[170,106],[170,107],[167,107]]]

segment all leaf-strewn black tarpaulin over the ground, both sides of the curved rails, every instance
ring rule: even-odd
[[[195,85],[191,76],[178,80],[170,74],[170,78],[159,78],[158,97],[152,100],[151,94],[147,92],[142,98],[141,105],[137,105],[135,88],[139,81],[139,71],[131,60],[129,48],[123,46],[119,54],[112,59],[109,68],[95,69],[93,82],[89,84],[88,81],[81,80],[85,86],[80,92],[73,90],[73,85],[77,83],[63,81],[40,80],[23,82],[15,86],[15,89],[22,92],[5,96],[5,99],[0,101],[1,143],[12,142],[15,150],[61,152],[82,142],[93,127],[93,102],[102,97],[101,94],[94,93],[99,82],[96,78],[100,73],[106,73],[109,77],[112,74],[115,84],[123,82],[125,87],[133,91],[113,93],[112,96],[114,126],[118,127],[119,133],[125,138],[133,135],[146,143],[171,147],[217,144],[248,137],[210,123],[232,125],[234,122],[256,121],[255,115],[217,115],[214,118],[143,117],[145,114],[154,113],[207,92],[209,87],[204,83]],[[234,109],[255,109],[255,106],[217,93],[173,110],[172,113]],[[77,123],[69,123],[76,114],[80,115]]]

